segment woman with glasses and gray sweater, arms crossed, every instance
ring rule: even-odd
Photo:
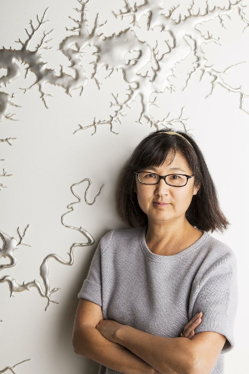
[[[75,352],[99,362],[99,374],[224,373],[236,257],[208,233],[229,222],[193,138],[169,129],[145,137],[122,170],[116,206],[128,228],[106,233],[94,253]]]

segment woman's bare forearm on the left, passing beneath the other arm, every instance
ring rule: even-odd
[[[109,341],[91,325],[84,326],[84,332],[77,339],[75,352],[112,370],[124,374],[157,373],[147,362],[137,357],[124,346]]]

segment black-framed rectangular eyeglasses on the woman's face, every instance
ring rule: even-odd
[[[169,186],[174,186],[174,187],[186,186],[189,178],[192,178],[194,176],[194,174],[192,175],[186,175],[186,174],[159,175],[156,173],[150,173],[148,171],[134,171],[134,174],[137,174],[138,181],[143,184],[158,184],[160,179],[163,178],[166,184],[168,184]]]

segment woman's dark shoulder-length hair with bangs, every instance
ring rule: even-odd
[[[144,137],[122,168],[116,189],[116,208],[119,217],[128,228],[139,228],[148,223],[147,215],[138,205],[137,194],[134,191],[136,186],[134,171],[150,166],[161,166],[166,157],[171,154],[172,162],[178,152],[186,158],[194,174],[194,187],[200,186],[186,211],[186,219],[198,230],[223,232],[230,223],[221,211],[217,190],[202,151],[189,134],[175,131],[191,145],[178,135],[167,135],[167,131],[172,129],[164,128]]]

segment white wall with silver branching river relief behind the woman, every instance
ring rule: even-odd
[[[0,373],[27,359],[16,373],[98,372],[72,347],[77,294],[100,237],[124,227],[114,200],[121,167],[165,125],[194,136],[231,222],[223,235],[212,233],[238,264],[235,347],[225,374],[248,373],[248,24],[248,0],[1,1],[0,230],[19,241],[18,228],[23,234],[29,225],[29,246],[13,252],[15,266],[0,268]],[[7,138],[15,138],[12,146]],[[75,186],[81,202],[70,212],[78,201],[71,186],[84,178],[88,202],[105,186],[93,205],[84,199],[87,181]],[[64,223],[83,227],[95,243],[76,247],[72,266],[49,258],[50,288],[60,289],[45,312],[37,288],[10,297],[3,279],[36,279],[44,289],[44,258],[69,261],[72,243],[86,242],[62,224],[66,212]],[[2,239],[0,246],[3,254]]]

